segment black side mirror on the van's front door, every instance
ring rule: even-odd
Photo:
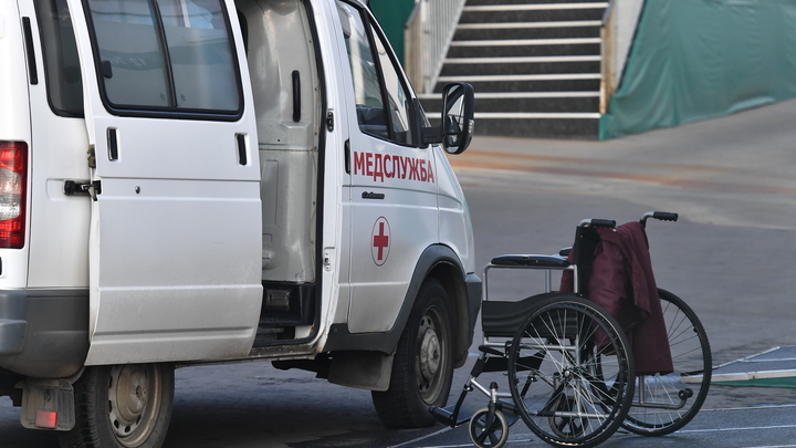
[[[473,136],[475,94],[468,83],[448,84],[442,92],[442,147],[448,154],[461,154]]]

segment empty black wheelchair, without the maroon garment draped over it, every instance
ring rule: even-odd
[[[646,227],[648,218],[677,221],[678,216],[677,213],[660,211],[648,212],[645,213],[640,220],[642,227]],[[693,418],[708,393],[711,373],[710,346],[706,335],[704,334],[704,329],[693,311],[679,298],[667,291],[659,290],[661,300],[666,301],[667,304],[673,304],[678,316],[680,312],[682,312],[684,317],[681,317],[682,320],[678,323],[678,326],[682,324],[682,322],[687,322],[687,326],[691,325],[693,332],[698,334],[698,342],[701,348],[700,354],[702,355],[701,367],[698,366],[699,368],[687,374],[675,372],[675,375],[679,374],[680,377],[674,377],[673,379],[674,382],[679,381],[683,384],[699,384],[695,397],[691,388],[664,390],[663,393],[654,389],[650,393],[648,385],[650,377],[652,378],[652,386],[661,386],[662,384],[661,387],[663,388],[670,388],[672,378],[662,381],[661,378],[663,376],[660,375],[640,375],[636,378],[632,354],[624,331],[621,331],[612,316],[601,308],[596,304],[584,303],[586,301],[582,299],[580,301],[576,300],[583,296],[580,291],[585,290],[585,288],[582,288],[582,284],[585,284],[582,283],[582,281],[587,282],[590,274],[590,262],[585,262],[584,256],[580,256],[578,252],[590,254],[594,252],[594,246],[589,244],[596,244],[594,241],[588,242],[587,239],[584,238],[584,232],[587,230],[591,231],[591,229],[599,227],[614,228],[615,226],[616,221],[614,220],[586,219],[580,221],[577,227],[575,247],[562,250],[558,256],[499,256],[493,258],[491,262],[484,267],[482,285],[482,330],[484,335],[482,344],[479,346],[481,354],[470,373],[470,377],[457,404],[446,408],[430,408],[430,411],[440,423],[450,427],[469,423],[469,435],[476,447],[500,448],[505,445],[507,440],[509,427],[522,417],[537,436],[551,445],[559,447],[591,447],[605,441],[620,425],[632,433],[659,436],[681,428]],[[572,264],[568,263],[565,258],[569,253],[569,250],[575,251],[573,257],[574,262]],[[544,270],[546,271],[544,274],[545,292],[535,294],[523,301],[490,301],[489,272],[492,269]],[[552,292],[553,271],[573,272],[574,292],[572,294]],[[504,311],[507,310],[507,313],[504,312],[503,317],[496,319],[495,322],[490,322],[494,320],[490,310],[495,306],[503,308]],[[564,320],[567,320],[566,322],[563,322],[561,317],[551,317],[555,316],[556,313],[568,316],[569,314],[567,313],[569,312],[575,313],[577,316],[583,314],[583,317],[577,317],[578,320],[583,319],[583,322],[585,322],[580,332],[586,330],[591,334],[593,330],[589,329],[599,326],[601,329],[600,331],[607,334],[608,338],[612,341],[612,348],[603,354],[598,352],[596,356],[589,358],[593,360],[589,362],[595,365],[588,368],[579,366],[578,363],[574,362],[576,358],[580,360],[583,357],[579,354],[582,347],[579,345],[567,345],[566,342],[563,341],[569,340],[572,344],[573,337],[570,336],[573,336],[573,334],[567,333],[569,332],[568,329],[570,325],[567,319],[572,317],[565,317]],[[515,315],[506,320],[505,315],[511,316],[512,313]],[[535,340],[544,338],[549,341],[549,334],[542,334],[538,330],[530,330],[533,329],[533,322],[538,324],[538,320],[544,319],[543,315],[548,317],[547,321],[543,321],[546,323],[546,326],[551,327],[561,324],[559,329],[562,330],[563,337],[558,338],[558,344],[553,344],[548,347],[544,344],[533,345],[524,343],[523,341],[525,338],[532,336],[530,332],[535,333]],[[536,321],[534,321],[534,319],[536,319]],[[514,329],[517,322],[522,322],[522,325],[517,325],[516,329]],[[507,327],[501,330],[500,325],[502,324],[505,324]],[[525,333],[524,335],[523,332]],[[575,338],[577,338],[575,334]],[[594,334],[589,337],[594,337]],[[507,338],[511,338],[511,341],[506,341]],[[591,344],[591,348],[589,350],[596,350],[594,347],[595,344],[589,342],[586,342],[586,344]],[[546,356],[545,354],[540,356],[537,353],[522,357],[519,354],[521,351],[528,348],[542,350],[542,352],[538,353],[544,352],[546,354],[549,354],[548,350],[559,351],[562,353],[562,362],[559,363],[562,366],[564,364],[569,365],[569,361],[573,361],[573,363],[566,368],[562,367],[562,372],[556,372],[552,376],[538,371],[538,366],[523,366],[523,368],[521,368],[523,372],[531,371],[531,373],[523,374],[525,375],[523,376],[525,384],[521,392],[519,389],[521,378],[516,374],[519,362],[528,363],[528,360],[537,357],[533,361],[533,364],[538,363],[541,366]],[[577,354],[575,356],[566,355],[565,352],[567,351],[575,351]],[[603,369],[601,366],[598,365],[603,362],[603,358],[610,357],[608,353],[612,353],[617,360],[617,376],[612,379],[612,386],[610,388],[607,385],[610,378],[601,377]],[[586,357],[588,358],[588,356]],[[624,373],[624,369],[627,372]],[[478,382],[478,377],[484,372],[503,371],[509,372],[511,393],[500,392],[495,382],[492,382],[489,388]],[[591,372],[591,374],[587,373],[587,371]],[[580,379],[563,379],[567,374],[570,376],[580,375]],[[690,377],[684,377],[689,375]],[[525,394],[528,392],[532,383],[538,383],[540,381],[548,383],[549,387],[554,390],[554,396],[547,399],[541,409],[531,411],[523,403],[523,399],[526,398]],[[568,382],[572,382],[572,384]],[[575,385],[576,383],[579,385]],[[572,387],[572,397],[563,393],[567,386]],[[471,416],[462,417],[462,414],[470,415],[467,411],[462,411],[462,405],[467,395],[472,390],[479,390],[488,396],[489,404]],[[675,392],[677,402],[671,398],[673,392]],[[590,397],[584,398],[584,396],[589,394],[591,395]],[[556,397],[556,395],[559,395],[559,397]],[[658,399],[661,399],[661,397],[666,399],[657,402],[656,397],[658,397]],[[694,398],[692,399],[692,397]],[[680,413],[680,409],[684,408],[687,404],[689,404],[689,400],[691,403],[688,409]],[[633,409],[632,413],[631,407]],[[587,408],[591,410],[588,411]],[[639,411],[639,409],[642,410]],[[646,409],[661,409],[666,413],[673,411],[674,415],[663,417],[659,414],[648,415]],[[509,417],[506,417],[506,414]],[[629,416],[629,414],[631,416]],[[551,430],[547,430],[546,425],[538,425],[535,419],[543,421],[547,419]],[[594,433],[587,434],[587,430],[591,428],[589,419],[596,419],[597,426]]]

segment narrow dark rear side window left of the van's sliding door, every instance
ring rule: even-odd
[[[35,4],[50,107],[61,116],[81,117],[83,79],[66,0],[40,0]]]

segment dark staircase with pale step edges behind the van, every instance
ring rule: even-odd
[[[433,95],[475,88],[476,135],[597,138],[607,0],[468,0]],[[436,96],[436,97],[434,97]]]

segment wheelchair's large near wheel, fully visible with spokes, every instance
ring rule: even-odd
[[[541,302],[509,354],[516,410],[536,436],[557,447],[593,447],[610,437],[630,408],[633,372],[619,324],[574,294]]]

